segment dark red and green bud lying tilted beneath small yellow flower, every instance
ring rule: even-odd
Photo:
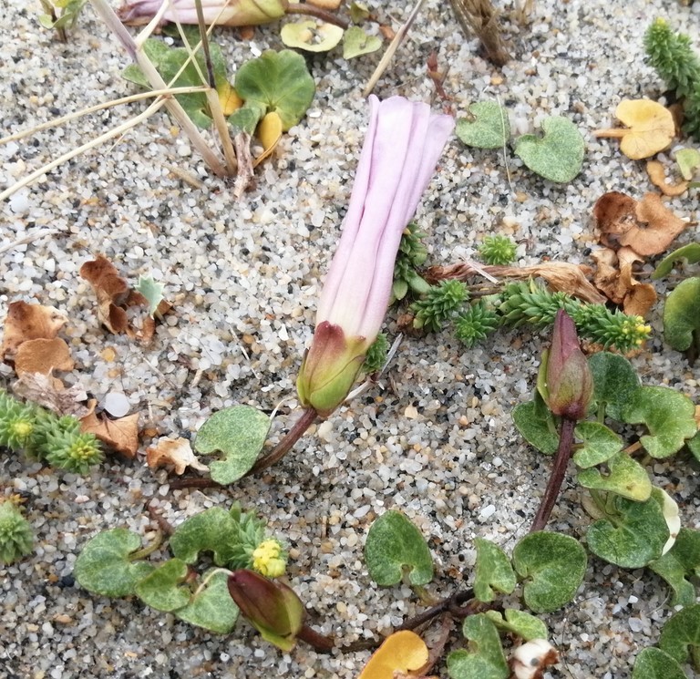
[[[242,569],[229,576],[229,593],[242,616],[266,641],[288,653],[304,627],[304,604],[293,589],[254,571]]]

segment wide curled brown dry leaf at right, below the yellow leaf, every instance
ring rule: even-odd
[[[646,193],[641,201],[617,191],[605,193],[593,216],[603,245],[613,250],[627,245],[643,257],[664,252],[691,223],[666,208],[658,193]]]

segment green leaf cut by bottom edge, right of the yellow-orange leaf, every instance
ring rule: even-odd
[[[469,615],[462,625],[469,650],[448,655],[451,679],[508,679],[510,671],[496,625],[483,613]]]

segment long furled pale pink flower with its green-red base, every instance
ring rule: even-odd
[[[454,127],[451,117],[403,97],[371,96],[369,104],[343,234],[296,383],[302,405],[321,417],[343,402],[379,333],[401,235]]]

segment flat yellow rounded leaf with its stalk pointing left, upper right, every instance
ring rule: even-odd
[[[628,129],[597,129],[593,135],[622,139],[620,150],[633,160],[649,158],[664,150],[675,136],[671,111],[650,99],[623,99],[615,108],[615,118]]]

